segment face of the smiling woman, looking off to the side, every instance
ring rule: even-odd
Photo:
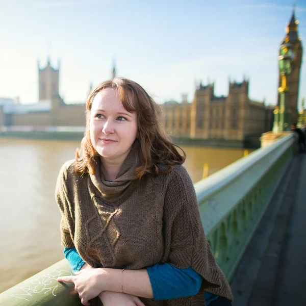
[[[106,88],[93,99],[89,129],[92,145],[101,157],[125,159],[137,136],[137,114],[125,110],[117,90]]]

